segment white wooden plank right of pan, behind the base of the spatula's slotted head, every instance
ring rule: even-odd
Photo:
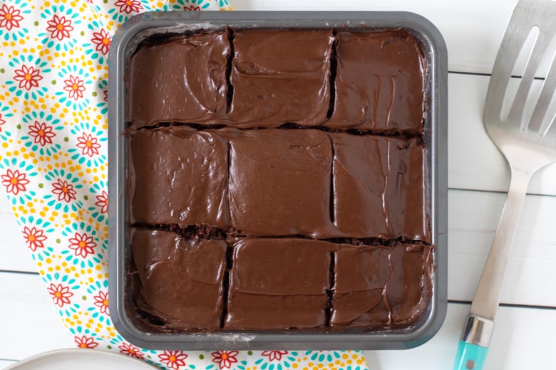
[[[451,188],[508,191],[508,164],[483,125],[488,81],[486,76],[455,73],[448,76],[448,184]],[[556,165],[535,174],[528,192],[556,195]]]

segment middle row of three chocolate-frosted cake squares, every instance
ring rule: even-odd
[[[430,241],[417,139],[180,126],[133,132],[129,157],[134,223]]]

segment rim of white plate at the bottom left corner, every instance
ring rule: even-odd
[[[37,354],[8,366],[4,370],[153,370],[153,366],[145,364],[123,354],[93,349],[58,349]]]

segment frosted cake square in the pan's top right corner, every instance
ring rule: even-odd
[[[423,132],[425,63],[403,30],[338,31],[334,113],[327,127]]]

